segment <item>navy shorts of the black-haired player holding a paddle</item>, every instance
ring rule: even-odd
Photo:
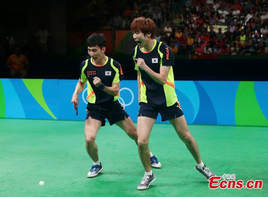
[[[115,124],[129,115],[125,111],[124,107],[119,101],[111,101],[104,104],[92,104],[88,103],[87,106],[87,117],[102,121],[102,126],[105,126],[105,118],[108,119],[110,125]]]

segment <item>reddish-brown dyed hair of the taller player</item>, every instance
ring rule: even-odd
[[[155,23],[152,19],[148,19],[144,16],[135,18],[131,23],[131,31],[141,31],[144,36],[147,33],[151,33],[150,38],[155,38]]]

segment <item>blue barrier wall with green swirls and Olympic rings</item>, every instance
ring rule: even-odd
[[[0,79],[0,117],[84,120],[86,89],[79,94],[78,116],[71,103],[76,83]],[[175,89],[187,123],[268,126],[267,81],[175,81]],[[119,102],[137,121],[137,81],[122,81],[120,95]]]

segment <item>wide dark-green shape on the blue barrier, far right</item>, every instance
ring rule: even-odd
[[[236,92],[235,118],[238,125],[268,126],[254,91],[253,81],[241,81]]]

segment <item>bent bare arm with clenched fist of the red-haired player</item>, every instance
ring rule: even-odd
[[[161,66],[160,73],[155,73],[152,69],[150,69],[144,62],[144,59],[138,58],[135,59],[137,61],[137,65],[139,68],[144,70],[150,77],[152,77],[155,82],[163,85],[166,83],[167,76],[169,74],[170,66]]]

